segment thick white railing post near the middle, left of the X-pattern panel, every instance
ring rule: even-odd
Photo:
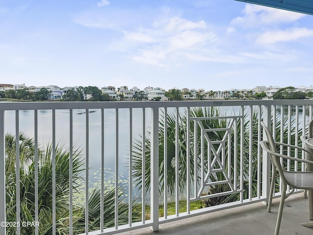
[[[152,231],[158,231],[158,107],[151,108],[151,166],[150,166],[150,182],[151,182],[151,219],[153,224]],[[144,130],[143,130],[144,131]]]

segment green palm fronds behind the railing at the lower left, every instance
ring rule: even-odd
[[[35,221],[35,143],[21,133],[20,139],[20,208],[21,221]],[[15,136],[5,135],[5,169],[6,169],[6,218],[16,221],[16,152]],[[56,228],[58,235],[69,233],[69,149],[64,145],[57,145],[55,149],[56,161]],[[52,145],[46,149],[38,149],[38,213],[39,234],[52,235]],[[73,150],[72,183],[73,194],[84,195],[79,186],[83,180],[84,158],[81,151]],[[119,190],[119,224],[128,222],[128,204],[123,201],[122,190]],[[89,193],[89,229],[100,229],[100,188],[93,188]],[[114,188],[105,188],[104,218],[105,228],[114,226]],[[83,196],[81,196],[83,197]],[[82,205],[73,206],[73,232],[85,232],[85,208]],[[134,202],[133,208],[137,204]],[[140,214],[134,210],[133,221],[138,221]],[[16,228],[7,228],[7,234],[15,234]],[[33,227],[21,227],[21,235],[34,234]]]

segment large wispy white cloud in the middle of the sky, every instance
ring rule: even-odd
[[[191,59],[188,53],[201,51],[216,41],[216,34],[206,29],[204,21],[193,22],[179,16],[123,32],[123,40],[115,42],[113,50],[123,48],[136,62],[166,68],[181,66],[181,59]]]

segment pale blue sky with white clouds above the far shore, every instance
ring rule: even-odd
[[[0,83],[309,87],[312,23],[236,0],[0,0]]]

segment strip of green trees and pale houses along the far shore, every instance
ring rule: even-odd
[[[114,93],[114,92],[113,92]],[[39,91],[30,91],[27,88],[19,90],[0,91],[0,101],[10,102],[34,102],[34,101],[142,101],[148,100],[144,91],[136,91],[133,96],[125,96],[117,93],[117,98],[112,98],[108,94],[103,94],[98,87],[78,87],[76,90],[69,89],[65,94],[58,94],[55,98],[52,93],[46,88],[41,88]],[[216,98],[214,91],[198,92],[191,94],[190,92],[182,92],[180,90],[169,90],[165,92],[166,100],[171,101],[188,101],[188,100],[225,100],[225,99],[243,99],[243,100],[258,100],[269,98],[266,92],[253,94],[252,91],[243,92],[226,92],[224,98]],[[186,98],[184,98],[186,97]],[[313,92],[296,91],[294,87],[286,87],[275,92],[273,99],[312,99]],[[154,97],[152,100],[161,100],[160,96]]]

